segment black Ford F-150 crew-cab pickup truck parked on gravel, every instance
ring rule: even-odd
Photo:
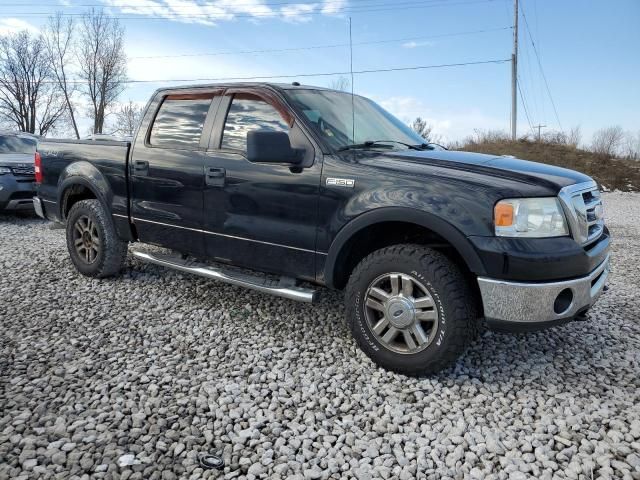
[[[334,90],[162,89],[131,143],[44,140],[35,161],[34,206],[66,222],[81,273],[118,273],[139,242],[175,252],[141,260],[292,300],[344,290],[360,347],[410,375],[455,360],[481,318],[584,319],[608,275],[591,178],[447,151]]]

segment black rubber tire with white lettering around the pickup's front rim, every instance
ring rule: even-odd
[[[392,272],[425,287],[432,301],[430,311],[437,312],[437,323],[432,324],[436,326],[428,334],[430,343],[424,342],[418,346],[423,349],[415,353],[410,349],[404,353],[392,350],[393,346],[386,345],[370,325],[372,310],[365,306],[367,293],[378,279]],[[460,269],[442,253],[421,245],[394,245],[365,257],[351,274],[345,302],[349,327],[360,348],[379,366],[405,375],[429,375],[451,365],[477,331],[475,298]],[[389,313],[380,315],[387,317]]]

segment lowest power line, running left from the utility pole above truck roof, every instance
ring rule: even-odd
[[[510,59],[497,59],[497,60],[480,60],[475,62],[460,62],[460,63],[441,63],[436,65],[415,65],[409,67],[390,67],[390,68],[376,68],[367,70],[354,70],[354,75],[368,74],[368,73],[385,73],[385,72],[406,72],[411,70],[427,70],[435,68],[446,67],[463,67],[468,65],[489,65],[500,64],[511,61]],[[156,80],[125,80],[122,83],[128,84],[141,84],[141,83],[170,83],[170,82],[225,82],[225,81],[244,81],[244,80],[275,80],[279,78],[305,78],[305,77],[329,77],[336,75],[350,75],[350,71],[341,72],[316,72],[316,73],[296,73],[285,75],[260,75],[260,76],[247,76],[247,77],[218,77],[218,78],[168,78],[168,79],[156,79]],[[57,83],[53,80],[44,81],[41,83]],[[84,80],[71,79],[68,83],[78,84],[84,83]]]

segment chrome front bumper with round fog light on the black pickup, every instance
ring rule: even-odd
[[[589,275],[562,282],[521,283],[479,277],[484,316],[489,322],[520,325],[571,319],[595,303],[608,275],[609,255]]]

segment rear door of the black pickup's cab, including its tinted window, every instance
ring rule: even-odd
[[[142,242],[204,253],[204,160],[217,92],[160,92],[129,162],[131,217]],[[144,129],[144,130],[143,130]]]

